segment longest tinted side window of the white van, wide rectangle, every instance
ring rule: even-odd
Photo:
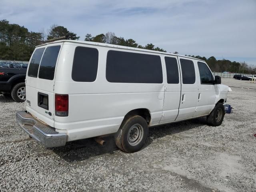
[[[115,83],[162,83],[160,56],[108,51],[106,79]]]

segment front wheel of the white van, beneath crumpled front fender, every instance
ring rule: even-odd
[[[225,115],[225,108],[222,103],[217,103],[213,111],[206,117],[206,120],[211,126],[219,126],[222,124]]]

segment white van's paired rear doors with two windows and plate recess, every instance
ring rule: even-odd
[[[26,109],[54,127],[54,82],[58,56],[63,43],[36,48],[26,76]]]

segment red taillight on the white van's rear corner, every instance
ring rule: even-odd
[[[68,116],[68,95],[55,94],[55,115]]]

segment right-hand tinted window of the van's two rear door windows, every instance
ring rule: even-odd
[[[39,78],[53,80],[59,51],[60,45],[46,48],[39,68]]]

